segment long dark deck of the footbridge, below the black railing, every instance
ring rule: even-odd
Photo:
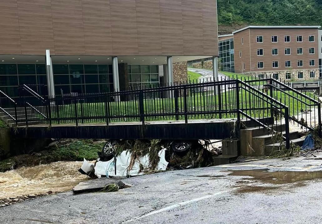
[[[232,135],[235,119],[30,125],[12,128],[17,138],[74,139],[224,139]],[[252,126],[251,121],[244,121]]]

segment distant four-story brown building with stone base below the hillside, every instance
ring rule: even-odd
[[[321,77],[320,26],[247,26],[219,35],[224,70],[282,80]]]

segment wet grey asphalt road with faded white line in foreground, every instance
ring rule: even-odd
[[[321,157],[249,161],[134,177],[123,180],[132,187],[118,192],[65,192],[6,206],[0,208],[0,221],[322,223],[322,180],[316,179],[322,177]]]

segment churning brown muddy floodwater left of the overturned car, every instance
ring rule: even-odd
[[[83,162],[63,161],[0,173],[0,199],[48,191],[69,191],[89,178],[78,172]]]

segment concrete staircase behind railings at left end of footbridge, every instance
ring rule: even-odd
[[[14,108],[4,108],[6,112],[8,112],[11,116],[15,118],[14,115]],[[32,122],[28,122],[28,125],[32,124],[41,124],[43,122],[37,121],[39,119],[39,116],[36,114],[36,112],[32,108],[27,108],[27,117],[28,120],[32,120]],[[18,118],[18,126],[24,126],[26,125],[25,119],[25,111],[23,107],[17,108],[17,118]],[[15,126],[15,122],[13,119],[10,118],[5,112],[0,111],[0,119],[3,120],[6,124],[8,124],[10,127]]]

